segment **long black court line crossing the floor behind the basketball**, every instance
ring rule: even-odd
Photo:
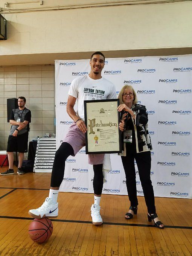
[[[15,216],[0,216],[0,219],[24,219],[24,220],[33,220],[34,218],[29,217],[15,217]],[[75,221],[70,219],[51,219],[53,222],[72,222],[72,223],[85,223],[92,224],[92,221]],[[128,224],[128,223],[118,223],[118,222],[103,222],[104,225],[114,225],[114,226],[131,226],[131,227],[155,227],[154,225],[146,224]],[[165,226],[170,229],[192,229],[192,227],[185,226]]]

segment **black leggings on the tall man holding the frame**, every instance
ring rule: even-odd
[[[51,174],[51,187],[60,187],[65,171],[65,162],[69,155],[74,155],[72,146],[63,142],[56,151]],[[103,189],[103,165],[93,165],[93,190],[94,194],[101,195]]]

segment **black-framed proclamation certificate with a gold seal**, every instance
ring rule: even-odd
[[[86,154],[121,152],[119,99],[84,101]]]

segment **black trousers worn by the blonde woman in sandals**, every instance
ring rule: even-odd
[[[126,176],[126,187],[128,192],[128,197],[131,203],[131,206],[137,206],[137,188],[136,188],[136,171],[134,159],[136,160],[139,178],[143,188],[143,194],[145,197],[145,203],[149,213],[156,213],[155,209],[155,199],[154,191],[151,183],[151,152],[126,152],[125,157],[121,157],[123,167],[125,170]]]

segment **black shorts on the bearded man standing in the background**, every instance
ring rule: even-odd
[[[28,134],[23,133],[18,136],[9,135],[7,143],[7,152],[20,152],[25,153],[28,150]]]

